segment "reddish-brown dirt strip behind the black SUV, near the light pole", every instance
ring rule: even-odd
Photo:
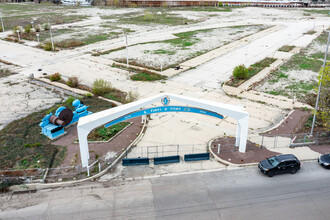
[[[268,131],[262,135],[265,136],[274,136],[274,135],[283,135],[287,137],[288,134],[299,133],[305,126],[306,121],[308,120],[311,113],[309,111],[304,111],[301,109],[294,110],[289,117],[285,119],[277,128]]]

